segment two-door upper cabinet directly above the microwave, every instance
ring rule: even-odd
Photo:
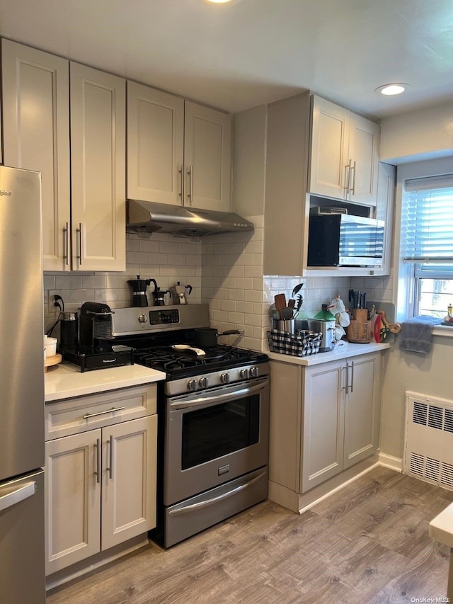
[[[376,205],[379,125],[313,96],[309,193]]]

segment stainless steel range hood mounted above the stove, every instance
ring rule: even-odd
[[[253,223],[233,212],[128,199],[126,230],[138,234],[171,233],[175,237],[205,237],[253,231]]]

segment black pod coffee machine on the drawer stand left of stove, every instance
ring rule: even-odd
[[[101,302],[84,302],[80,309],[79,346],[81,351],[105,353],[112,350],[113,311]]]

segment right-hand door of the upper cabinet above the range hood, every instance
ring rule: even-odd
[[[185,101],[184,205],[228,212],[231,118]]]

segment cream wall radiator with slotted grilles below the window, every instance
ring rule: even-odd
[[[403,472],[453,490],[453,401],[406,392]]]

